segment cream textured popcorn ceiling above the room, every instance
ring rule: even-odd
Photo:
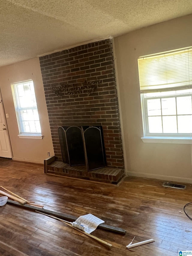
[[[191,0],[0,0],[0,66],[191,13]]]

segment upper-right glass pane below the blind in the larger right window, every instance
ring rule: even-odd
[[[177,114],[192,114],[191,96],[177,97]]]

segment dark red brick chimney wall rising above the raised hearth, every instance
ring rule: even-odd
[[[58,126],[102,125],[107,166],[124,168],[111,39],[40,57],[55,157],[62,161]],[[92,95],[56,96],[51,86],[101,80]]]

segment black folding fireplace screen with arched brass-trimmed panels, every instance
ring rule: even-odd
[[[102,126],[59,126],[63,162],[95,170],[106,164]]]

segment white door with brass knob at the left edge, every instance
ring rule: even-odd
[[[8,133],[4,119],[3,104],[0,98],[0,157],[11,158]]]

